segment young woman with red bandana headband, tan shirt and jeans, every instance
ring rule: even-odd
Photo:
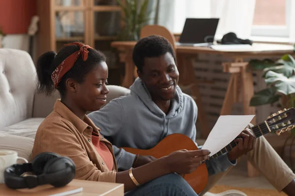
[[[118,172],[112,144],[104,139],[87,111],[106,103],[108,67],[100,51],[74,42],[37,61],[38,91],[60,93],[54,110],[40,124],[32,157],[44,151],[71,158],[77,179],[123,183],[126,196],[197,196],[176,173],[190,173],[207,160],[207,150],[179,150],[147,165]]]

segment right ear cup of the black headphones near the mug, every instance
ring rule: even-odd
[[[64,172],[59,176],[57,175],[53,182],[50,182],[55,187],[65,186],[72,181],[76,174],[75,163],[68,157],[58,157],[48,161],[43,169],[45,175],[61,171]]]

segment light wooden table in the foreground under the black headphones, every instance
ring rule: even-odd
[[[68,187],[67,187],[68,186]],[[65,187],[55,188],[51,185],[42,185],[33,189],[13,190],[6,187],[5,184],[0,184],[0,196],[46,196],[54,195],[67,191],[69,187],[80,188],[83,191],[76,193],[73,196],[124,196],[124,185],[109,182],[95,182],[87,180],[72,180]]]

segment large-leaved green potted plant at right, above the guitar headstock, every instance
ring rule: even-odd
[[[273,62],[252,60],[250,66],[254,70],[263,70],[266,88],[255,93],[250,100],[250,106],[259,106],[279,102],[282,108],[295,107],[295,59],[285,54]],[[295,129],[284,145],[284,161],[295,170]]]

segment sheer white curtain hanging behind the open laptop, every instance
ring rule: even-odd
[[[247,39],[254,9],[255,0],[160,0],[159,25],[179,33],[186,18],[219,18],[217,38],[235,32],[239,38]]]

